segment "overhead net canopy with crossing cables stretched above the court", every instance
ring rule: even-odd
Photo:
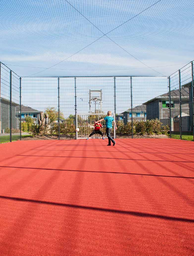
[[[2,0],[0,17],[20,76],[166,76],[193,53],[190,0]]]

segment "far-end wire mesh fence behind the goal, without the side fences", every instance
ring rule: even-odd
[[[163,124],[163,117],[159,115],[161,104],[158,100],[159,94],[166,93],[168,89],[167,77],[22,78],[22,88],[22,104],[28,108],[30,106],[33,111],[39,111],[40,116],[42,113],[41,121],[44,118],[47,120],[47,114],[49,119],[43,121],[42,131],[40,121],[38,125],[28,128],[27,124],[22,123],[28,129],[26,135],[33,130],[37,138],[43,135],[44,138],[75,138],[77,127],[80,130],[77,138],[85,138],[96,119],[105,117],[111,111],[116,117],[118,128],[115,135],[112,130],[113,137],[168,136],[167,124]],[[152,114],[149,119],[152,122],[146,117],[148,103],[151,105]],[[55,119],[52,118],[54,113]],[[32,114],[23,113],[25,116],[22,118]],[[95,114],[99,115],[98,118]],[[164,118],[168,119],[168,115]]]

